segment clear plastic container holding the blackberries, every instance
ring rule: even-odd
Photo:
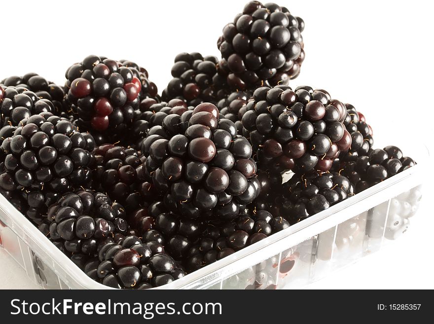
[[[154,289],[301,288],[393,242],[417,212],[426,146],[395,141],[418,164],[256,244]],[[381,147],[376,145],[376,147]],[[108,288],[86,276],[0,195],[0,247],[42,288]]]

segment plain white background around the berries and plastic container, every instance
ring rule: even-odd
[[[177,53],[218,56],[217,37],[245,2],[3,1],[0,79],[32,71],[62,84],[71,64],[97,54],[137,62],[161,91]],[[434,108],[434,23],[427,2],[281,0],[306,23],[306,60],[291,85],[324,88],[355,105],[378,147],[434,141],[423,135],[433,130]],[[395,245],[311,288],[434,288],[431,174],[418,216]],[[0,288],[35,287],[0,250]]]

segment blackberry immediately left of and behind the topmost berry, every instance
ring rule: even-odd
[[[215,104],[225,95],[226,76],[221,75],[214,56],[180,53],[171,72],[174,78],[163,90],[163,100],[181,99],[188,106],[197,106],[203,102]]]

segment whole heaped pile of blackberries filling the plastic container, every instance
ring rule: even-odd
[[[161,97],[138,64],[96,55],[65,86],[2,79],[0,193],[93,280],[147,289],[414,166],[374,148],[354,106],[289,87],[303,29],[250,1],[223,28],[221,59],[178,54]],[[249,287],[276,287],[257,270]]]

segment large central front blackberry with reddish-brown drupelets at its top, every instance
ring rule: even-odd
[[[210,103],[170,114],[143,142],[145,174],[165,194],[165,205],[181,216],[212,212],[231,219],[260,191],[252,146],[232,121],[217,116]]]

